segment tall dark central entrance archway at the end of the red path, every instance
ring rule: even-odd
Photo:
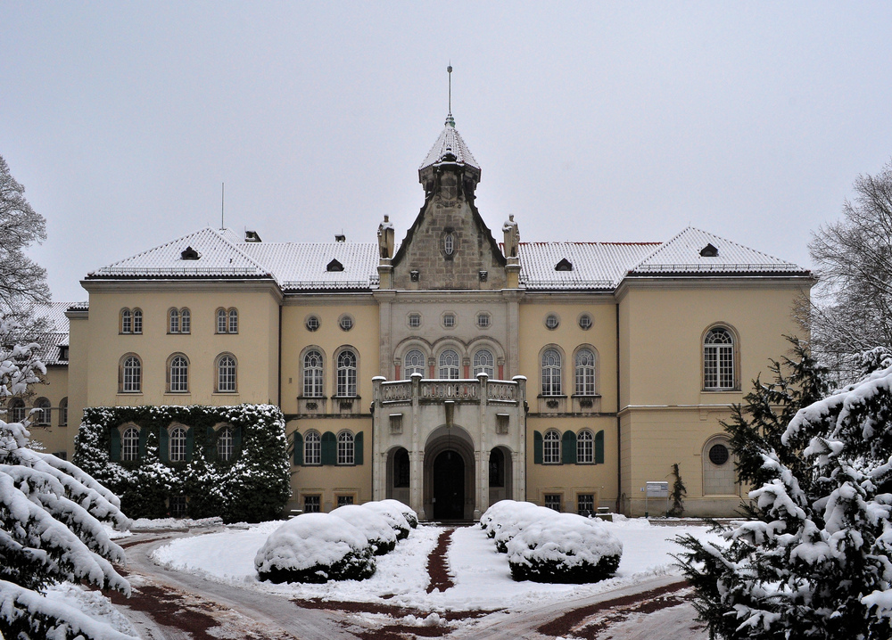
[[[437,427],[425,444],[425,513],[436,520],[470,520],[474,514],[474,442],[458,425]]]

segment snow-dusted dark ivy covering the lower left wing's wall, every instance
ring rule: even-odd
[[[139,430],[136,460],[122,460],[121,428]],[[185,460],[169,460],[169,429],[186,429]],[[230,428],[232,455],[219,455]],[[227,522],[280,517],[291,496],[285,418],[277,406],[99,406],[84,409],[73,459],[121,498],[131,518],[170,514],[170,498],[186,496],[192,518]]]

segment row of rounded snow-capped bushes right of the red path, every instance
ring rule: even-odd
[[[516,580],[597,582],[615,572],[623,554],[623,544],[601,521],[531,502],[501,500],[480,524],[508,554]]]

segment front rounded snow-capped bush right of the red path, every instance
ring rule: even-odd
[[[511,577],[579,584],[612,576],[623,543],[599,520],[549,511],[549,517],[530,523],[508,543]]]

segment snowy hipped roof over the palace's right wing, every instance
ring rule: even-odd
[[[805,275],[808,271],[792,262],[689,226],[641,260],[630,275],[694,273]]]

